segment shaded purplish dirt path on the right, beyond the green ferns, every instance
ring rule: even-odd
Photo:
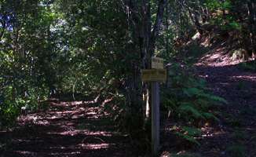
[[[203,138],[200,152],[203,156],[256,156],[256,72],[218,58],[201,60],[195,68],[210,92],[229,103],[221,107],[221,123],[215,133]]]

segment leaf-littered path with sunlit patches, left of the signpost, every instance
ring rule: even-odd
[[[0,156],[130,156],[129,137],[99,106],[55,100],[47,111],[20,116],[17,127],[0,132]]]

